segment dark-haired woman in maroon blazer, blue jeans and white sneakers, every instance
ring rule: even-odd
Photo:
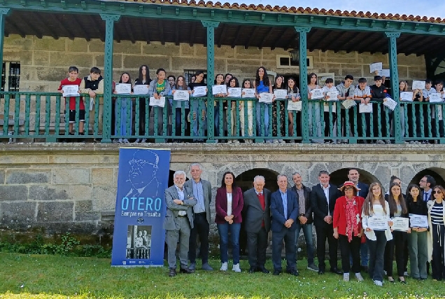
[[[241,211],[243,210],[243,192],[235,184],[235,176],[232,172],[225,172],[221,187],[216,190],[215,222],[220,234],[220,271],[227,271],[227,244],[229,243],[229,230],[231,235],[233,267],[235,272],[241,272],[239,268],[239,230],[241,228]]]

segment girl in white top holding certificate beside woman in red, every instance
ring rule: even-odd
[[[365,229],[366,242],[369,247],[369,276],[372,277],[376,286],[383,286],[383,256],[385,255],[386,242],[393,239],[390,225],[393,221],[389,219],[389,204],[383,198],[380,183],[372,183],[369,193],[365,199],[362,210],[362,227]],[[388,219],[385,230],[373,230],[369,227],[375,224],[372,217]],[[377,223],[382,224],[382,223]],[[383,223],[386,224],[386,223]]]

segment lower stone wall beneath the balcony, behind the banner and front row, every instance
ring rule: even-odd
[[[402,190],[424,169],[432,169],[445,178],[445,154],[441,145],[147,146],[171,148],[169,167],[174,171],[187,172],[190,163],[201,162],[203,179],[213,186],[213,198],[226,171],[239,176],[255,169],[255,174],[282,173],[288,178],[292,172],[300,172],[304,184],[311,187],[318,183],[320,170],[332,173],[358,167],[362,174],[383,183],[384,188],[388,188],[391,175],[399,176]],[[117,176],[116,144],[4,144],[0,146],[0,228],[111,234]],[[214,218],[214,207],[212,214]]]

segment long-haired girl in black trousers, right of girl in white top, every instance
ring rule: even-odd
[[[402,190],[400,190],[400,185],[398,183],[390,184],[388,204],[390,207],[390,218],[408,218],[407,202],[405,202],[405,199],[402,195]],[[407,232],[411,232],[411,230],[408,228]],[[407,242],[407,232],[392,230],[393,239],[386,242],[384,269],[388,274],[388,281],[390,282],[395,282],[393,279],[393,260],[395,253],[395,262],[397,264],[397,275],[399,276],[399,281],[402,284],[407,283],[403,276],[403,272],[405,270],[404,248]]]

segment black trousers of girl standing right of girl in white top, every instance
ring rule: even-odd
[[[402,277],[405,271],[405,246],[407,244],[407,232],[393,232],[393,239],[386,242],[385,246],[385,267],[386,274],[393,276],[393,260],[395,253],[395,263],[397,265],[397,276]]]

